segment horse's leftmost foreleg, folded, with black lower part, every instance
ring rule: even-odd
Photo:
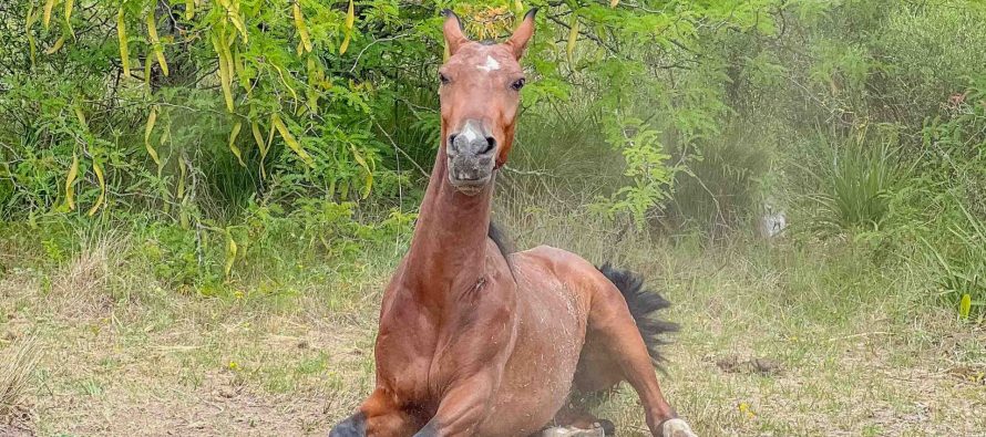
[[[392,397],[378,388],[359,410],[336,425],[329,437],[404,437],[420,427],[420,423],[393,405]]]

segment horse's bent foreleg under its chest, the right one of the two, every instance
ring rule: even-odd
[[[493,404],[497,378],[491,372],[476,374],[449,389],[438,413],[414,437],[473,436]]]

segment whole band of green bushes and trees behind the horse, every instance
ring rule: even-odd
[[[983,300],[977,2],[66,3],[0,6],[0,217],[47,262],[73,227],[138,227],[161,283],[214,294],[399,246],[439,144],[438,11],[502,39],[538,7],[518,198],[713,238],[770,198],[809,241],[921,248],[948,304]]]

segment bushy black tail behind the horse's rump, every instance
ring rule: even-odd
[[[657,319],[657,312],[671,306],[671,302],[661,298],[655,291],[644,288],[644,278],[629,270],[614,269],[608,262],[599,267],[599,271],[619,289],[623,298],[627,301],[630,314],[637,322],[637,329],[640,330],[640,336],[647,344],[647,352],[655,366],[658,366],[665,358],[660,356],[658,348],[663,344],[669,342],[663,336],[665,334],[678,331],[676,323],[666,322]]]

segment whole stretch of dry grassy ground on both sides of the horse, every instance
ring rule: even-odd
[[[682,330],[660,381],[700,435],[986,429],[977,376],[986,333],[928,302],[913,266],[875,264],[845,242],[735,235],[705,249],[672,246],[619,233],[582,208],[502,195],[496,215],[516,223],[520,247],[614,259],[675,303],[668,318]],[[237,275],[203,295],[163,285],[132,257],[140,232],[105,236],[68,244],[61,261],[23,239],[0,244],[0,356],[23,341],[38,351],[37,366],[24,367],[17,404],[29,414],[19,426],[45,436],[323,435],[371,389],[380,292],[405,239],[372,244],[348,266],[311,257],[304,269]],[[779,371],[717,365],[751,358]],[[620,436],[644,435],[627,388],[597,413]]]

